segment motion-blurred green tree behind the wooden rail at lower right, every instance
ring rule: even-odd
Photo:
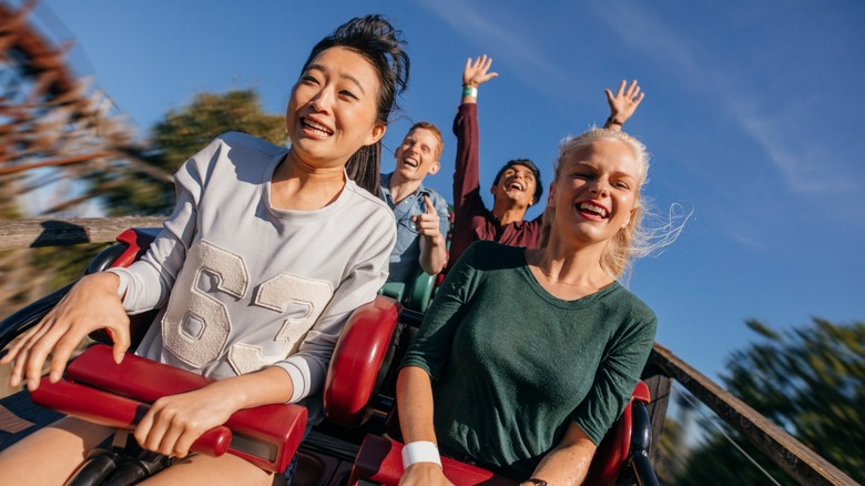
[[[760,341],[726,361],[725,387],[805,446],[857,482],[865,483],[865,322],[837,325],[814,318],[810,326],[777,333],[757,321],[747,326]],[[737,434],[730,435],[739,444]],[[676,484],[765,484],[721,434],[694,452]],[[745,447],[752,453],[752,447]],[[783,473],[760,464],[778,480]]]

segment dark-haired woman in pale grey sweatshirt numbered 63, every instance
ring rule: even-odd
[[[134,432],[182,458],[166,484],[269,484],[233,455],[189,456],[234,412],[317,396],[339,333],[387,277],[394,215],[376,195],[378,149],[408,82],[400,32],[354,19],[313,49],[286,111],[289,149],[226,133],[175,174],[177,204],[142,261],[85,276],[2,358],[11,385],[35,389],[49,354],[61,377],[73,348],[106,328],[120,362],[128,313],[162,308],[138,353],[215,378],[156,401]],[[372,179],[370,179],[372,178]],[[355,181],[356,180],[356,181]],[[370,193],[372,191],[372,193]],[[63,418],[0,455],[10,484],[61,484],[105,427]]]

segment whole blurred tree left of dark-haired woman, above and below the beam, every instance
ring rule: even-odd
[[[152,129],[152,151],[142,162],[164,175],[173,174],[183,162],[203,149],[214,136],[241,131],[277,145],[287,141],[281,114],[263,111],[254,90],[232,90],[224,94],[201,93],[189,105],[169,111]],[[166,214],[174,205],[173,184],[169,178],[141,178],[102,174],[98,184],[103,191],[111,215]],[[122,178],[122,179],[121,179]]]

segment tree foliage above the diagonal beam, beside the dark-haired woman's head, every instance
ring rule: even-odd
[[[252,90],[233,90],[225,94],[202,93],[189,107],[171,111],[153,128],[153,144],[161,151],[159,164],[174,172],[207,144],[227,131],[241,131],[282,145],[286,142],[282,115],[262,111],[258,95]]]

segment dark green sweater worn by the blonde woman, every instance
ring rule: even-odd
[[[439,447],[528,477],[570,421],[600,443],[640,378],[654,313],[613,283],[550,295],[526,250],[481,241],[448,273],[406,354],[434,381]]]

